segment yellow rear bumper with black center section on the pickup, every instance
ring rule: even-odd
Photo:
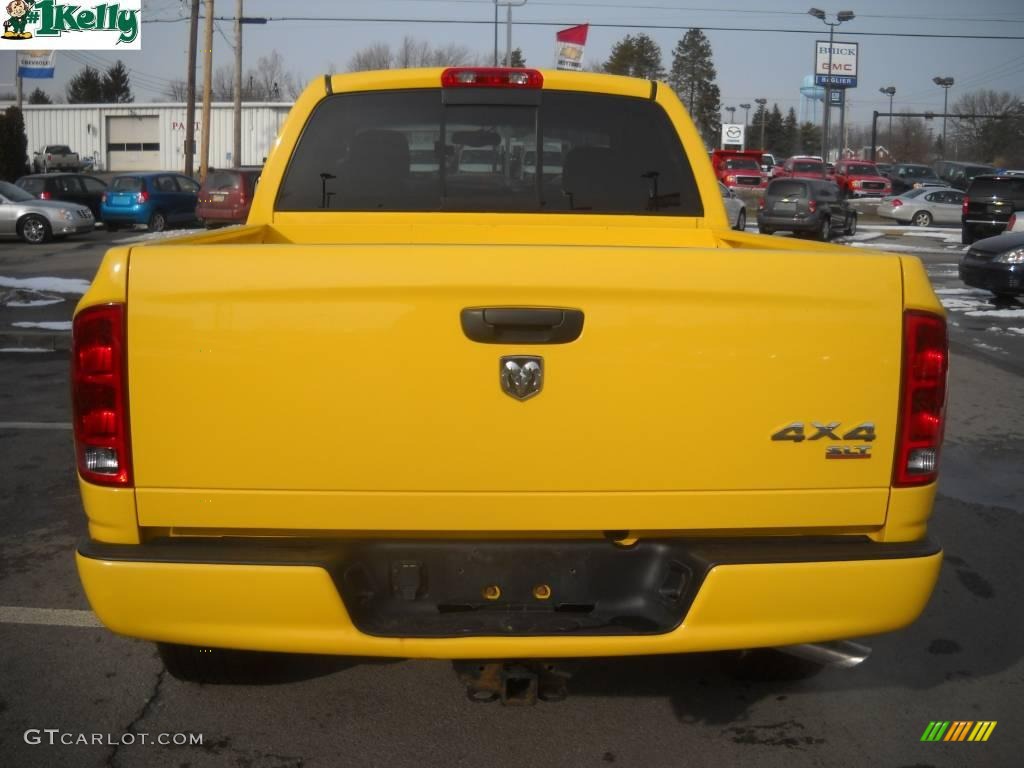
[[[77,556],[93,609],[120,634],[433,658],[675,653],[888,632],[924,609],[941,560],[932,540],[859,537],[662,539],[630,548],[599,540],[164,540],[89,542]],[[503,596],[481,604],[481,585],[492,582]],[[547,600],[531,594],[539,584],[550,585]],[[559,595],[573,601],[567,611],[555,610]]]

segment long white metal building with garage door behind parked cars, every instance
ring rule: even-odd
[[[262,165],[292,104],[242,104],[241,165]],[[67,144],[97,171],[183,171],[184,103],[26,104],[25,128],[32,154],[47,144]],[[202,135],[196,109],[196,167]],[[231,103],[211,111],[210,166],[232,163],[234,112]]]

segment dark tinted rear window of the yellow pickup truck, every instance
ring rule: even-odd
[[[276,210],[703,215],[654,101],[567,91],[543,91],[540,105],[493,101],[445,105],[439,88],[328,96]]]

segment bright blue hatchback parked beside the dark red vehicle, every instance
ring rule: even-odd
[[[145,224],[162,231],[169,224],[196,220],[199,184],[180,173],[115,176],[99,206],[108,229]]]

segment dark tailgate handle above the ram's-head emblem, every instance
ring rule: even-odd
[[[583,333],[583,310],[559,307],[467,307],[462,332],[481,344],[566,344]]]

